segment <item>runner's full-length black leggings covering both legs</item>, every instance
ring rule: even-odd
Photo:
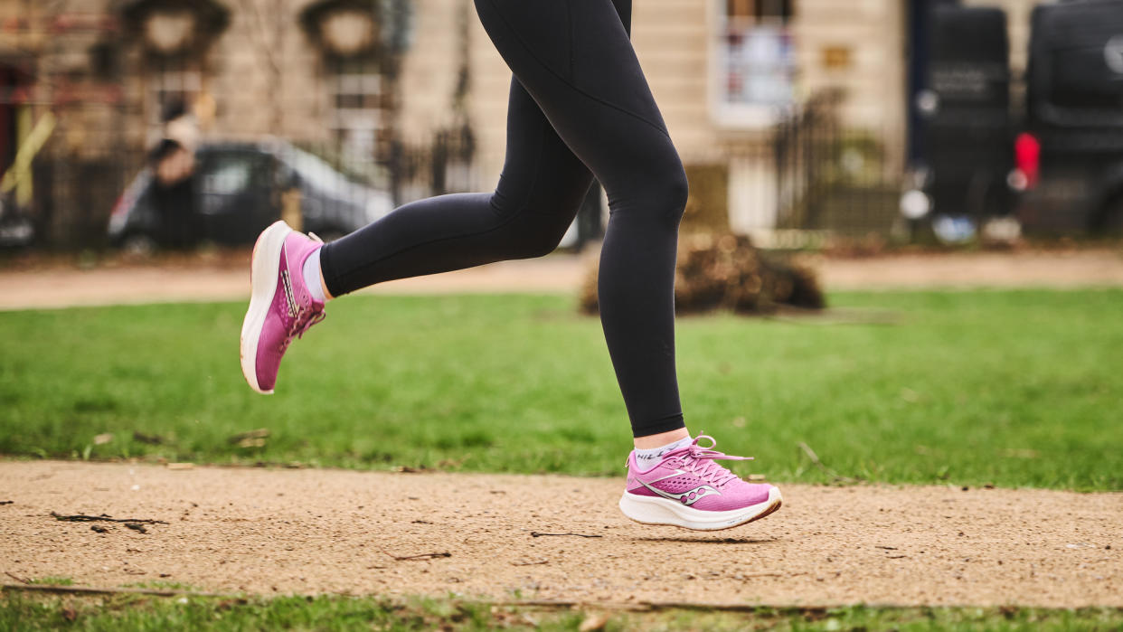
[[[329,244],[328,290],[546,255],[595,174],[610,209],[601,322],[632,432],[683,428],[674,283],[686,175],[629,40],[631,0],[475,3],[514,73],[495,192],[411,202]]]

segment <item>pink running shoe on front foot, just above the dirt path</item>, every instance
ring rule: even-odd
[[[699,434],[690,446],[664,455],[647,471],[634,452],[628,456],[628,485],[620,511],[643,524],[670,524],[699,531],[731,529],[773,513],[783,498],[773,485],[754,485],[718,465],[718,459],[748,460],[699,446],[713,437]]]

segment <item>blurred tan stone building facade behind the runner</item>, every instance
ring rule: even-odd
[[[843,91],[842,125],[880,148],[877,168],[900,174],[909,11],[923,1],[634,0],[640,62],[719,221],[776,225],[770,135],[824,89]],[[1007,10],[1016,71],[1035,0],[966,1]],[[204,137],[316,145],[375,180],[395,146],[466,135],[454,187],[487,189],[510,73],[471,0],[0,0],[0,81],[2,168],[48,110],[44,152],[139,164],[179,100]]]

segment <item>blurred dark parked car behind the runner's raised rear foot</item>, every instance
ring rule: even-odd
[[[134,248],[200,241],[252,244],[282,216],[283,194],[300,192],[302,230],[330,239],[393,209],[390,193],[354,182],[287,143],[210,143],[198,147],[186,180],[164,186],[145,167],[109,220],[110,240]]]

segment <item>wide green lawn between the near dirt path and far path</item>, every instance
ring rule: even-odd
[[[871,482],[1123,488],[1123,291],[831,303],[895,318],[679,320],[687,421],[757,458],[741,471],[830,480],[805,442]],[[0,454],[622,471],[630,433],[600,323],[570,299],[348,297],[294,344],[273,396],[241,378],[243,311],[0,313]],[[259,428],[264,446],[230,440]]]

